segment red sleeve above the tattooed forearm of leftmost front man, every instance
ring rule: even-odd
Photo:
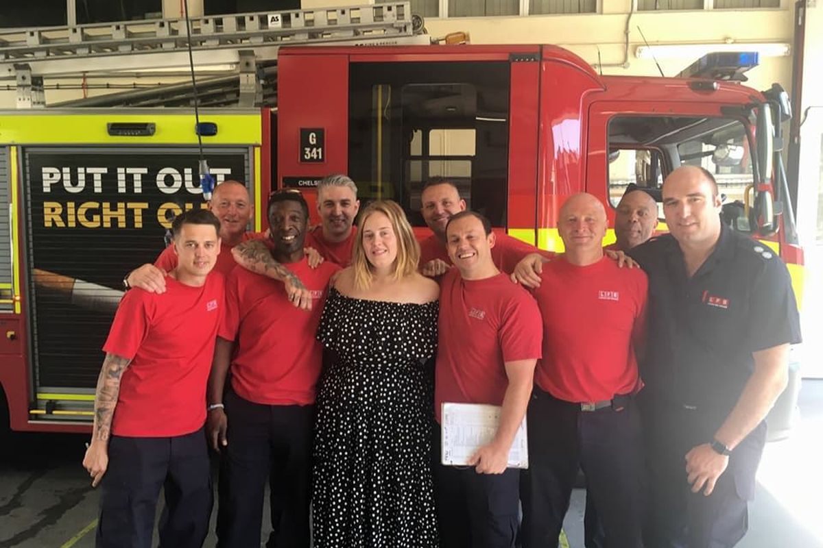
[[[149,293],[142,289],[126,292],[117,307],[117,313],[109,329],[109,338],[106,338],[103,345],[103,352],[128,360],[134,359],[151,326],[151,312],[154,306],[149,302],[149,298]]]

